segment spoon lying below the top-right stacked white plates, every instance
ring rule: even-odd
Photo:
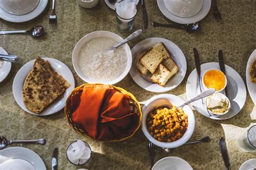
[[[188,32],[193,32],[193,31],[199,30],[199,23],[193,23],[193,24],[162,24],[162,23],[152,22],[152,26],[182,28],[182,29],[184,29]]]

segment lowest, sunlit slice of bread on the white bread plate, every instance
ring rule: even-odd
[[[171,76],[172,72],[163,64],[160,64],[150,79],[154,83],[157,83],[160,86],[164,86],[166,82],[171,78]]]

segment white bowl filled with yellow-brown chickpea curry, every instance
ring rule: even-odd
[[[142,130],[154,145],[176,148],[187,142],[195,126],[194,114],[178,96],[160,94],[152,97],[143,107]]]

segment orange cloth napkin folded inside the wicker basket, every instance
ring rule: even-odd
[[[96,140],[127,137],[139,124],[138,114],[130,111],[129,96],[109,85],[85,85],[71,97],[69,110],[73,124]]]

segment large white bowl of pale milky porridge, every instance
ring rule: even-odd
[[[116,33],[95,31],[76,44],[72,63],[78,76],[87,83],[116,84],[129,73],[132,53],[128,44],[110,50],[123,40]]]

